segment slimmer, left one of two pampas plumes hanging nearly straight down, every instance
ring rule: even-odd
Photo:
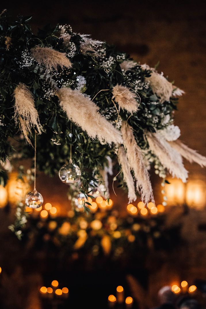
[[[134,188],[134,179],[130,172],[129,162],[127,160],[127,155],[123,146],[119,147],[118,160],[122,168],[124,182],[126,183],[128,188],[129,203],[131,203],[132,201],[136,201],[137,197]]]

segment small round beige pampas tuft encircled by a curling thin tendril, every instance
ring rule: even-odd
[[[138,111],[138,102],[136,100],[136,94],[130,91],[129,88],[116,85],[112,90],[113,98],[120,108],[126,109],[128,112],[133,113]]]

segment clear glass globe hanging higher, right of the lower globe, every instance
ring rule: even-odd
[[[74,184],[80,180],[80,168],[74,163],[64,164],[59,170],[59,178],[65,184]]]

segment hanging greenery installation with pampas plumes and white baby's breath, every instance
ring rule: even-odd
[[[77,34],[69,25],[33,34],[31,17],[9,23],[0,15],[0,160],[33,158],[61,180],[76,182],[87,197],[101,184],[108,193],[112,165],[129,202],[140,194],[154,202],[149,169],[187,179],[182,157],[206,166],[206,158],[177,140],[177,96],[184,91],[156,68],[134,62],[114,46]],[[15,143],[13,142],[15,140]],[[18,151],[18,156],[16,152]],[[80,171],[79,171],[80,170]],[[1,180],[6,179],[2,167]]]

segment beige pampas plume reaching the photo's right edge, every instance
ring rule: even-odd
[[[172,146],[175,150],[177,150],[182,157],[188,160],[190,163],[195,162],[199,164],[201,167],[206,166],[206,158],[203,155],[197,153],[196,150],[193,150],[180,142],[179,140],[175,142],[170,142],[170,146]]]

